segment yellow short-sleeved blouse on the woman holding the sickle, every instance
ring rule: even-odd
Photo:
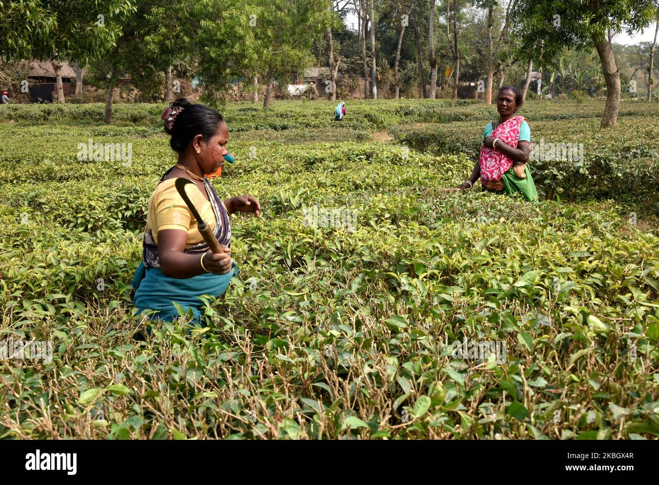
[[[186,185],[185,192],[195,207],[202,207],[202,203],[206,201],[195,185]],[[200,197],[204,200],[200,201]],[[156,213],[156,231],[179,229],[188,232],[191,226],[196,227],[196,220],[194,220],[192,212],[179,195],[175,185],[163,189],[156,195],[154,210]]]

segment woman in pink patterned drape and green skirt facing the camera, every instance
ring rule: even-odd
[[[515,115],[522,95],[515,86],[503,86],[497,98],[499,121],[489,123],[483,132],[480,156],[471,177],[459,185],[469,190],[480,178],[483,188],[495,193],[522,193],[525,199],[538,198],[527,162],[530,128],[523,116]]]

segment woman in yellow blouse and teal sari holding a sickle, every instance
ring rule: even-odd
[[[179,154],[151,195],[142,242],[143,259],[132,280],[134,304],[140,311],[156,310],[155,318],[172,321],[179,316],[174,305],[192,309],[200,319],[198,296],[225,292],[238,267],[231,259],[229,214],[236,210],[258,217],[261,205],[251,195],[221,201],[204,175],[223,166],[229,129],[222,115],[203,104],[179,98],[163,112],[170,145]],[[174,182],[183,177],[194,182],[186,193],[223,248],[214,254],[197,230],[192,212],[177,192]]]

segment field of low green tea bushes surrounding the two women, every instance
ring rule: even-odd
[[[470,146],[459,133],[482,133],[474,119],[490,108],[418,100],[405,114],[409,103],[350,102],[354,124],[321,119],[329,102],[276,102],[269,115],[227,106],[237,162],[214,184],[256,195],[262,215],[232,216],[240,277],[202,296],[209,326],[158,325],[145,341],[133,339],[148,317],[130,281],[148,197],[175,162],[161,106],[141,106],[154,125],[121,114],[123,126],[82,114],[30,123],[32,106],[0,123],[0,333],[54,342],[52,362],[0,360],[0,437],[659,436],[656,229],[602,197],[533,205],[442,191],[471,171],[473,154],[454,147]],[[418,118],[441,110],[474,118],[428,125],[453,141],[416,150]],[[572,114],[589,146],[611,138],[595,110]],[[638,119],[619,123],[639,131]],[[365,143],[386,123],[411,148]],[[534,137],[555,127],[531,122]],[[130,166],[77,160],[90,137],[132,143]],[[355,226],[309,224],[315,206],[354,210]],[[503,362],[455,358],[463,339],[505,345]]]

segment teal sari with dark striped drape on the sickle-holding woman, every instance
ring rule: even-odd
[[[171,170],[168,170],[160,181],[163,181]],[[229,214],[207,178],[204,178],[204,187],[215,214],[215,237],[220,244],[231,248]],[[184,253],[192,254],[202,254],[206,251],[208,245],[204,241],[183,250]],[[226,275],[204,273],[192,278],[171,278],[163,275],[158,260],[158,245],[154,242],[152,230],[148,229],[142,240],[142,263],[132,278],[132,287],[135,289],[133,302],[140,313],[145,309],[156,310],[157,313],[152,315],[152,319],[161,321],[173,321],[179,317],[179,312],[174,306],[176,302],[183,307],[185,313],[191,309],[194,321],[200,321],[201,307],[204,303],[198,297],[220,296],[227,290],[232,276],[238,276],[236,263],[233,263]]]

